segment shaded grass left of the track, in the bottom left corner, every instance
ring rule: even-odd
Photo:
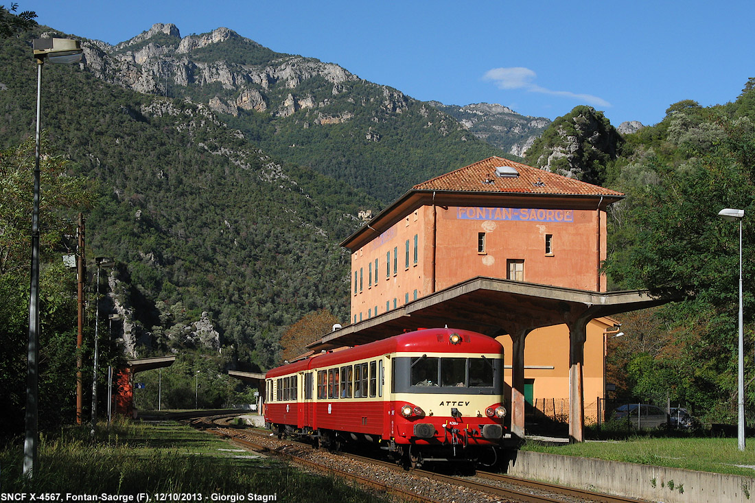
[[[335,477],[305,474],[288,464],[230,449],[226,440],[174,421],[122,421],[109,431],[100,428],[94,440],[88,427],[72,427],[42,437],[39,470],[32,480],[21,474],[23,442],[2,449],[0,487],[3,492],[60,492],[60,501],[66,501],[66,493],[161,492],[201,494],[202,501],[211,501],[213,494],[274,495],[270,501],[390,501]]]

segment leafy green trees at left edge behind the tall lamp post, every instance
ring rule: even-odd
[[[40,162],[40,262],[39,403],[42,428],[72,421],[75,416],[76,298],[75,273],[60,260],[66,248],[64,233],[72,233],[75,211],[91,205],[91,182],[71,176],[69,163],[60,156],[45,155]],[[26,403],[26,344],[29,322],[29,263],[31,258],[32,171],[35,142],[0,150],[0,431],[14,434],[23,426]],[[94,330],[89,310],[86,333]],[[91,363],[91,346],[83,351]],[[116,363],[122,353],[114,344],[101,348],[103,367]],[[85,366],[91,390],[91,365]]]

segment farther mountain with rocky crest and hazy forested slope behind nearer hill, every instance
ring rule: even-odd
[[[230,29],[182,38],[176,26],[156,24],[116,46],[84,45],[86,71],[101,79],[205,103],[271,156],[383,204],[438,174],[504,155],[428,103]]]

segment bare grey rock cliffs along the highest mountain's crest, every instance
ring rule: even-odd
[[[328,82],[334,95],[343,82],[359,81],[334,63],[275,53],[227,28],[181,38],[175,25],[159,23],[119,45],[82,45],[85,66],[106,82],[143,94],[193,97],[233,116],[240,110],[272,110],[285,117],[316,106],[306,94],[291,92],[310,79]],[[222,56],[212,52],[220,45]],[[288,92],[271,92],[275,89]],[[210,97],[208,90],[213,90]],[[393,108],[393,100],[387,106]]]

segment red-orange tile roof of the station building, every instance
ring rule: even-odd
[[[499,177],[495,168],[515,168],[517,177]],[[519,193],[574,196],[618,196],[624,194],[593,184],[513,162],[503,157],[489,157],[442,174],[412,187],[413,190],[448,190],[461,192]]]

